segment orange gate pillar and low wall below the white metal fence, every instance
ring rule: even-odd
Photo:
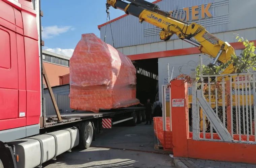
[[[171,107],[173,156],[218,160],[228,162],[254,163],[256,144],[225,141],[194,140],[188,124],[188,90],[184,80],[171,81],[172,99],[183,99],[184,107]],[[200,133],[200,136],[201,133]],[[237,136],[237,135],[234,135]],[[218,139],[218,135],[214,134]],[[250,139],[254,140],[252,136]],[[242,137],[244,139],[245,137]]]

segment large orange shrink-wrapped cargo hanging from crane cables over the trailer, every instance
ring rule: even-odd
[[[70,108],[99,112],[139,103],[131,60],[95,34],[83,34],[70,58]]]

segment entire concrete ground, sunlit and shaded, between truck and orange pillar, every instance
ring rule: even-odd
[[[96,134],[95,141],[89,149],[73,149],[72,152],[58,156],[56,161],[44,163],[43,167],[173,168],[173,158],[169,153],[155,153],[157,151],[154,150],[154,126],[144,123],[135,127],[120,123],[112,129],[104,129],[103,133]]]

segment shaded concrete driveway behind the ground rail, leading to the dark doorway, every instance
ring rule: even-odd
[[[154,135],[154,125],[144,124],[145,122],[128,127],[120,123],[111,129],[103,129],[102,134],[96,134],[92,146],[156,152],[154,144],[157,144],[157,139]]]

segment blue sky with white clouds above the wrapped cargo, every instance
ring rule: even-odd
[[[106,22],[106,0],[88,1],[41,0],[43,49],[71,56],[81,34],[100,37],[98,25]],[[122,10],[110,8],[110,19],[123,14]]]

